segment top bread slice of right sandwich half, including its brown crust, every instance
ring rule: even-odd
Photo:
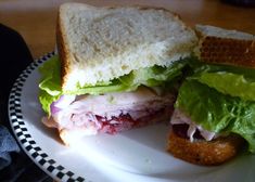
[[[196,25],[196,56],[206,63],[255,67],[255,36],[208,25]]]

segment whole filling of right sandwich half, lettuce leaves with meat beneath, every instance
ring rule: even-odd
[[[255,74],[253,68],[191,63],[170,123],[180,136],[212,141],[238,134],[255,153]]]

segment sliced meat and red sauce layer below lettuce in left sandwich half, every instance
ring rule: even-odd
[[[145,87],[132,92],[62,95],[51,104],[51,116],[42,121],[60,131],[84,129],[84,134],[114,134],[169,119],[174,102],[174,94],[158,95]]]

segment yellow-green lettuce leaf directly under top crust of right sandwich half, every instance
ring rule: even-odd
[[[255,72],[253,68],[206,64],[195,58],[189,62],[189,66],[191,74],[188,79],[195,79],[224,94],[255,101]]]

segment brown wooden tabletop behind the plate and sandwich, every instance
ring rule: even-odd
[[[18,31],[34,58],[55,47],[58,8],[64,0],[0,1],[0,23]],[[78,1],[76,1],[78,2]],[[190,26],[207,24],[255,35],[255,8],[241,8],[220,0],[84,0],[93,5],[142,4],[163,6],[178,13]]]

